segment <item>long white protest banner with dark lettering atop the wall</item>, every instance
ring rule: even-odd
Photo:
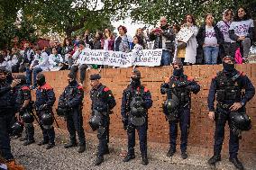
[[[162,49],[142,49],[139,52],[120,52],[104,49],[83,51],[79,60],[85,64],[107,65],[114,67],[160,66]]]

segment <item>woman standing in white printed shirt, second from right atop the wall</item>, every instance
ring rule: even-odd
[[[232,56],[234,58],[234,53],[233,53],[234,50],[233,50],[232,43],[235,41],[231,40],[228,32],[232,22],[233,22],[233,11],[231,9],[226,9],[224,10],[224,13],[223,13],[223,20],[220,22],[217,22],[216,24],[217,27],[220,29],[220,31],[222,31],[222,33],[224,34],[224,43],[220,47],[220,50],[222,51],[221,60],[225,56]]]

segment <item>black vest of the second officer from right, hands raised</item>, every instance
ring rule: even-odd
[[[179,103],[189,103],[190,102],[190,92],[186,89],[188,85],[187,76],[176,78],[174,76],[170,77],[169,88],[173,89],[173,94],[178,97]]]

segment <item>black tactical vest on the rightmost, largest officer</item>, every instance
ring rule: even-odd
[[[216,76],[216,100],[222,103],[226,100],[241,99],[242,88],[237,83],[241,73],[237,72],[235,76],[226,76],[223,71],[218,72]]]

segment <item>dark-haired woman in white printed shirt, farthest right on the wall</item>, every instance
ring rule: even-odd
[[[253,29],[254,25],[250,14],[245,8],[238,8],[229,28],[229,36],[235,41],[233,45],[239,44],[236,48],[242,48],[242,57],[245,63],[248,62],[247,58],[251,48]],[[235,53],[236,48],[233,48],[233,53]]]

